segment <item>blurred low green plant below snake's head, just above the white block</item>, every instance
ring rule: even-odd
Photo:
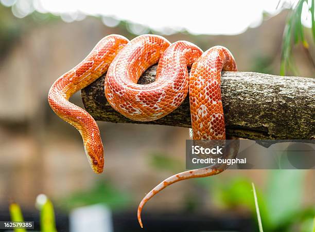
[[[130,202],[131,197],[118,191],[109,181],[99,181],[88,191],[75,192],[60,199],[58,205],[65,210],[93,204],[106,204],[111,209],[120,209],[128,206]]]

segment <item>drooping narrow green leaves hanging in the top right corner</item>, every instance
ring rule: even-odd
[[[315,16],[314,16],[314,8],[315,8],[315,0],[310,0],[311,6],[309,8],[311,14],[311,34],[313,37],[313,42],[315,42]],[[296,67],[294,66],[294,61],[292,57],[292,48],[294,45],[298,45],[300,42],[302,43],[304,49],[308,53],[308,57],[312,65],[314,66],[313,57],[309,53],[309,44],[305,39],[305,28],[301,22],[301,15],[303,5],[306,4],[308,6],[308,0],[299,0],[298,4],[294,8],[292,8],[291,12],[288,15],[287,24],[283,34],[283,45],[282,45],[282,54],[281,54],[281,67],[280,74],[285,75],[287,71],[292,71],[296,73]],[[312,43],[314,44],[314,43]]]

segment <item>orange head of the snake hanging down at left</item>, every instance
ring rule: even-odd
[[[95,173],[102,173],[104,167],[104,155],[102,142],[86,142],[84,144],[84,150],[86,157],[90,162],[90,165]]]

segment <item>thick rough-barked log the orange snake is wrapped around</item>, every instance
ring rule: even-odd
[[[139,84],[155,79],[150,67]],[[135,122],[116,112],[104,95],[104,75],[81,91],[85,109],[95,120],[190,127],[188,96],[179,108],[153,122]],[[247,139],[313,139],[315,79],[254,72],[223,72],[221,92],[230,136]]]

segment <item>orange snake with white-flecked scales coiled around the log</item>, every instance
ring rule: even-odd
[[[155,82],[137,84],[142,73],[158,62]],[[51,86],[48,102],[60,118],[79,130],[91,167],[101,173],[104,160],[98,126],[88,112],[68,101],[71,95],[107,72],[104,91],[110,105],[129,119],[153,121],[176,109],[189,91],[194,140],[224,140],[222,70],[236,71],[236,64],[230,51],[221,46],[202,52],[189,42],[170,44],[158,35],[140,35],[130,42],[120,35],[108,35],[80,64]],[[138,207],[141,227],[142,208],[156,193],[172,183],[213,176],[221,171],[223,169],[209,167],[188,170],[154,187]]]

